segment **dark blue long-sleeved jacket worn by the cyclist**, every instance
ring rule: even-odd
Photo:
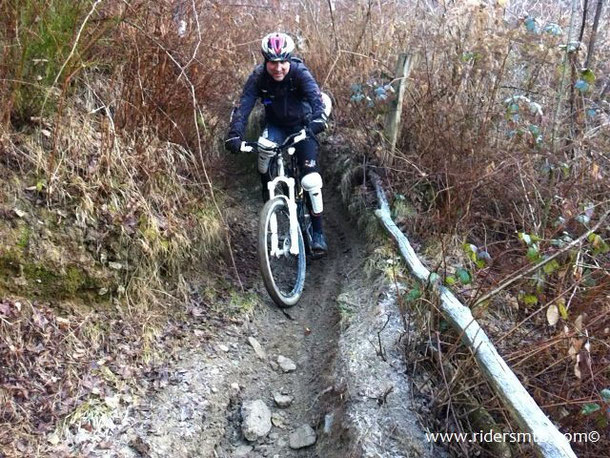
[[[275,81],[258,65],[244,86],[239,104],[233,110],[227,139],[243,138],[248,117],[257,99],[265,106],[265,120],[280,127],[306,126],[311,121],[324,122],[324,105],[318,83],[300,59],[290,60],[290,71]]]

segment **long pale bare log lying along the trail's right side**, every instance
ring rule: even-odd
[[[407,237],[392,220],[381,179],[372,171],[369,171],[369,179],[375,187],[379,201],[379,209],[375,211],[375,215],[396,240],[411,273],[422,284],[432,284],[430,271],[419,260]],[[479,367],[513,418],[524,432],[531,435],[532,445],[537,453],[545,458],[576,458],[568,440],[544,414],[502,359],[485,331],[472,316],[470,309],[460,303],[446,287],[432,284],[432,288],[439,295],[441,311],[461,333],[462,342],[473,352]]]

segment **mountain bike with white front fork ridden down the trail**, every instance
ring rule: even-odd
[[[269,200],[260,213],[258,258],[265,287],[279,307],[291,307],[300,299],[311,253],[311,221],[294,154],[295,145],[305,138],[303,129],[281,145],[261,138],[243,142],[241,147],[269,159],[273,179],[268,183]]]

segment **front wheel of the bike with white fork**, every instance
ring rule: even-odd
[[[265,287],[280,307],[296,304],[305,286],[305,245],[296,229],[298,253],[292,254],[288,202],[284,197],[267,201],[259,223],[258,256]]]

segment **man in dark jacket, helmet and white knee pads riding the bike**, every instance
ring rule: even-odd
[[[281,144],[288,135],[305,128],[307,138],[295,145],[301,170],[301,185],[308,191],[308,209],[313,228],[312,251],[323,255],[328,250],[322,229],[322,208],[314,213],[310,196],[319,194],[321,203],[322,177],[318,164],[316,134],[326,128],[327,115],[322,93],[309,69],[301,59],[293,57],[294,41],[285,33],[266,35],[261,43],[264,63],[258,65],[246,81],[239,104],[233,110],[225,146],[238,153],[257,99],[265,107],[265,128],[262,137]],[[326,97],[326,96],[325,96]],[[269,198],[267,183],[271,177],[269,159],[259,153],[258,169],[263,186],[263,199]]]

